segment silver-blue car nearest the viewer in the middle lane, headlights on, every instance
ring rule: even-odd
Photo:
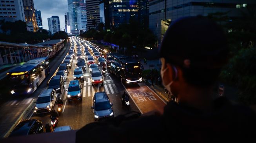
[[[97,92],[93,96],[93,109],[94,120],[102,120],[105,118],[114,117],[112,109],[113,103],[111,104],[107,93]]]

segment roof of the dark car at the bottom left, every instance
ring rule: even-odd
[[[29,130],[32,125],[36,122],[36,119],[24,120],[20,122],[13,132],[11,132],[10,136],[20,136],[20,135],[27,135],[29,134]]]

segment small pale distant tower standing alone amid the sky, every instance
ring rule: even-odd
[[[51,34],[54,34],[58,31],[60,31],[60,18],[59,18],[59,16],[52,16],[50,18],[47,18],[47,20],[48,20],[49,31],[51,31]]]

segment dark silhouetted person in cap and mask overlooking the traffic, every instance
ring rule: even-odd
[[[163,86],[176,102],[169,102],[163,114],[145,113],[136,119],[120,115],[87,124],[76,132],[76,143],[254,142],[254,111],[212,95],[227,55],[227,40],[214,21],[204,17],[172,21],[159,57]]]

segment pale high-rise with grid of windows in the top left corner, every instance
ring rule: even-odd
[[[22,0],[1,0],[0,20],[14,22],[21,20],[25,22],[24,7]]]

